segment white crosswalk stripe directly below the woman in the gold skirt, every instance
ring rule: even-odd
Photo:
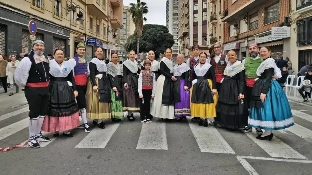
[[[120,122],[105,122],[105,129],[95,127],[75,148],[105,148]]]

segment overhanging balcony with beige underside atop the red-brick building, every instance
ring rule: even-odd
[[[241,7],[239,7],[238,9],[236,9],[234,12],[228,13],[228,15],[224,17],[221,22],[235,21],[236,16],[243,16],[248,12],[254,11],[255,8],[258,8],[261,4],[265,3],[267,3],[266,0],[250,0]],[[232,7],[229,6],[229,8],[231,9]]]

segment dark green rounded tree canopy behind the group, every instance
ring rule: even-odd
[[[127,51],[136,50],[137,32],[134,32],[129,38],[132,39],[132,42]],[[169,33],[167,27],[158,24],[145,24],[139,42],[139,50],[141,52],[153,50],[155,58],[158,58],[159,54],[163,54],[166,48],[171,48],[174,44],[173,35]]]

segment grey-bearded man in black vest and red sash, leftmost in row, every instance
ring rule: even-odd
[[[46,62],[44,42],[34,41],[32,52],[24,57],[15,70],[15,82],[25,87],[25,97],[29,106],[29,140],[32,148],[40,148],[39,142],[51,141],[41,134],[41,126],[49,104],[49,64]]]

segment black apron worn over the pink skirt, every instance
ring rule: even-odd
[[[68,85],[67,78],[51,78],[49,91],[51,97],[48,116],[71,116],[79,110],[75,101],[73,88]]]

